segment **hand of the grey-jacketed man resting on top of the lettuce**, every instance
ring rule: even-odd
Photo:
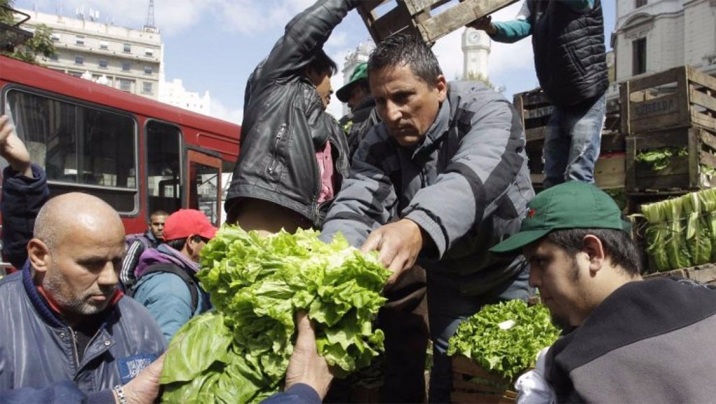
[[[400,275],[415,265],[417,254],[423,246],[422,230],[410,219],[380,226],[368,235],[361,251],[378,251],[378,259],[392,271],[386,287],[397,282]]]

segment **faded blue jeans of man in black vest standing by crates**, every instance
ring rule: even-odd
[[[604,95],[593,103],[554,106],[544,140],[544,188],[570,180],[594,183],[605,114]]]

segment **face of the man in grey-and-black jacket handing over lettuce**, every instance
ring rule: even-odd
[[[370,92],[388,133],[402,146],[417,145],[437,117],[448,94],[445,77],[429,85],[412,73],[410,65],[385,67],[370,74]]]

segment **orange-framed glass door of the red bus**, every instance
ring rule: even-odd
[[[189,207],[203,211],[214,226],[221,220],[221,160],[188,151]]]

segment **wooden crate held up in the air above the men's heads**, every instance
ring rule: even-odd
[[[475,19],[517,0],[362,0],[358,14],[375,43],[398,32],[420,35],[433,44]],[[379,11],[388,9],[384,14]]]

